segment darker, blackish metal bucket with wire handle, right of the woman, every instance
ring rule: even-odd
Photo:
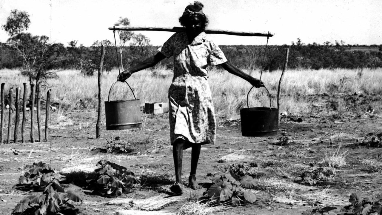
[[[265,88],[267,90],[267,88]],[[252,88],[251,88],[252,90]],[[251,91],[249,90],[249,92]],[[268,90],[267,90],[268,91]],[[248,95],[247,94],[247,107]],[[269,91],[268,91],[269,94]],[[270,99],[268,107],[255,107],[240,109],[241,135],[244,137],[264,137],[276,135],[278,131],[278,108],[271,108]]]

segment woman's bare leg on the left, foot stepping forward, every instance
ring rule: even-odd
[[[172,155],[174,157],[174,168],[176,182],[170,187],[171,192],[182,194],[182,161],[183,161],[183,145],[185,140],[178,139],[172,147]]]

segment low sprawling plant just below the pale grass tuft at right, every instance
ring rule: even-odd
[[[301,173],[301,182],[303,184],[320,185],[325,182],[331,182],[334,179],[335,171],[331,168],[319,167]]]

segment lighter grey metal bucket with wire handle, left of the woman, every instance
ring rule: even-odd
[[[105,101],[106,130],[122,130],[142,127],[141,103],[139,102],[139,99],[135,99],[134,92],[134,99],[132,100],[110,101],[110,92],[115,83],[110,87],[108,101]]]

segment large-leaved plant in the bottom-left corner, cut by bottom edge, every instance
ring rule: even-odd
[[[50,182],[41,195],[28,195],[21,200],[13,209],[15,215],[54,215],[54,214],[77,214],[71,202],[82,202],[82,197],[75,192],[64,189],[58,182]]]

